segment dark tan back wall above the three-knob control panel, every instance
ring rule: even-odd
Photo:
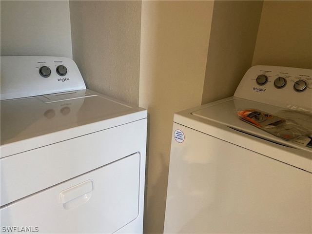
[[[253,65],[312,69],[312,1],[264,1]]]

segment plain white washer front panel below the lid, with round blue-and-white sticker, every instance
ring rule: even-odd
[[[165,234],[312,232],[309,172],[177,123],[169,165]]]

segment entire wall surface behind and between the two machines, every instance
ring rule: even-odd
[[[162,233],[173,114],[233,95],[251,65],[311,69],[311,4],[1,1],[1,55],[73,55],[88,88],[148,110],[144,233]]]

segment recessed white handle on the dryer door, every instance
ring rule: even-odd
[[[68,210],[87,202],[94,189],[94,181],[89,179],[59,193],[59,203]]]

